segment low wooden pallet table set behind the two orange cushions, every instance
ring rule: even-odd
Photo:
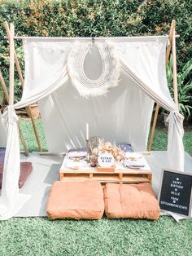
[[[59,170],[61,181],[93,179],[101,183],[151,183],[152,173],[146,160],[146,166],[137,170],[125,168],[123,164],[116,163],[115,171],[101,171],[88,164],[73,170],[67,167],[67,161],[68,158],[65,157]]]

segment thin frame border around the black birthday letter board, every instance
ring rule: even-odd
[[[162,194],[162,185],[163,185],[163,179],[164,179],[164,173],[165,172],[171,172],[173,174],[181,174],[181,175],[188,175],[188,176],[191,176],[192,177],[192,174],[190,173],[185,173],[185,172],[181,172],[181,171],[176,171],[176,170],[168,170],[168,169],[163,169],[162,170],[162,173],[161,173],[161,178],[160,178],[160,188],[159,188],[159,195],[158,195],[158,201],[159,201],[159,207],[161,209],[161,204],[160,204],[160,198],[161,198],[161,194]],[[172,206],[172,205],[170,205]],[[177,213],[176,211],[172,211],[172,210],[164,210],[164,209],[161,209],[162,212],[172,212],[173,214],[177,214],[179,216],[182,216],[182,217],[185,217],[185,218],[191,218],[191,213],[192,213],[192,188],[190,189],[190,201],[189,201],[189,211],[188,211],[188,214],[179,214]]]

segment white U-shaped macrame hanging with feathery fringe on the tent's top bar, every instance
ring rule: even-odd
[[[91,80],[85,75],[85,57],[91,49],[91,43],[76,42],[68,55],[68,73],[73,86],[79,94],[85,98],[89,96],[105,95],[109,88],[117,86],[120,76],[119,58],[116,54],[116,46],[111,42],[97,42],[98,52],[103,63],[103,71],[100,77]]]

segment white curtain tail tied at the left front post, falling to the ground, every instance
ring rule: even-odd
[[[2,115],[7,126],[7,148],[2,176],[2,195],[0,197],[0,220],[14,216],[30,196],[19,194],[20,178],[20,142],[17,121],[18,117],[12,106]]]

